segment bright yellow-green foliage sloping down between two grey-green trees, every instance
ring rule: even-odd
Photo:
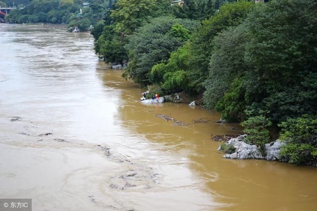
[[[213,52],[213,39],[222,30],[241,23],[253,5],[248,1],[224,4],[214,16],[202,22],[191,39],[171,55],[167,64],[163,62],[154,67],[153,72],[163,75],[162,81],[154,83],[162,83],[167,92],[202,92],[209,75],[208,64]]]

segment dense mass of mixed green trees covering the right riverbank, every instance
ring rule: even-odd
[[[93,32],[96,51],[107,62],[128,61],[123,75],[160,93],[203,94],[207,109],[243,122],[247,141],[262,150],[281,128],[290,163],[316,162],[308,127],[316,130],[317,2],[157,2],[119,0],[112,22]]]

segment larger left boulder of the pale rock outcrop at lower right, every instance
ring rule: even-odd
[[[234,152],[231,154],[225,154],[223,158],[230,159],[264,159],[259,147],[256,145],[250,145],[244,142],[246,135],[240,135],[237,138],[231,138],[225,144],[232,148],[234,147]],[[220,146],[218,150],[223,150]]]

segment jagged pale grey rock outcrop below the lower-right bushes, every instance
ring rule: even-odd
[[[283,161],[280,156],[281,146],[283,142],[276,140],[269,144],[265,144],[265,154],[262,155],[260,148],[256,145],[250,145],[244,142],[247,135],[240,135],[237,138],[231,138],[225,143],[227,146],[233,146],[234,150],[231,154],[225,154],[223,158],[230,159],[265,159],[267,161]],[[222,146],[218,150],[224,150]]]

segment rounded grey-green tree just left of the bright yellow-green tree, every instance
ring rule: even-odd
[[[184,43],[189,31],[196,27],[195,21],[162,16],[138,29],[126,46],[132,61],[124,76],[141,85],[152,84],[152,67],[167,62],[170,54]]]

